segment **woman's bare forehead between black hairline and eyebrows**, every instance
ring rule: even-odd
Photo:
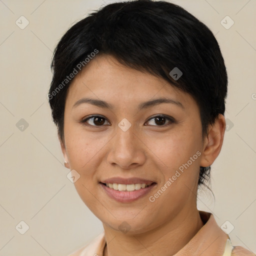
[[[195,103],[188,93],[162,77],[124,66],[110,55],[96,56],[74,77],[66,103],[84,96],[126,106],[159,97],[171,97],[184,106]]]

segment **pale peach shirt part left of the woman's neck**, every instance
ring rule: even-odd
[[[102,254],[105,245],[104,232],[96,236],[89,244],[79,248],[68,256],[94,256]]]

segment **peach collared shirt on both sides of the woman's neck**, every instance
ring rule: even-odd
[[[204,225],[173,256],[256,256],[241,246],[232,246],[229,236],[217,225],[211,213],[199,210],[199,214]],[[102,256],[105,245],[102,232],[91,243],[69,256]]]

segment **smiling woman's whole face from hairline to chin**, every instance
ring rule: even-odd
[[[61,146],[79,196],[108,227],[144,232],[196,207],[199,108],[162,78],[92,59],[68,89]]]

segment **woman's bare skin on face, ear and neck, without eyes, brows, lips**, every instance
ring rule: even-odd
[[[113,108],[89,103],[73,107],[82,97],[104,100]],[[159,103],[138,110],[140,103],[160,97],[172,98],[183,107]],[[160,114],[175,121],[166,118],[165,126],[160,125],[153,118]],[[89,115],[104,117],[103,125],[93,118],[88,125],[82,123]],[[123,118],[131,123],[127,131],[118,127]],[[199,166],[211,165],[219,154],[224,116],[219,114],[208,128],[202,137],[199,108],[188,93],[162,78],[121,65],[110,55],[96,56],[75,76],[68,88],[60,144],[66,167],[80,174],[74,183],[79,196],[103,223],[104,255],[173,255],[202,227],[196,208]],[[196,151],[200,156],[150,202],[149,196]],[[117,202],[99,184],[113,176],[146,178],[156,185],[135,201]],[[123,221],[130,228],[126,233],[118,228]]]

